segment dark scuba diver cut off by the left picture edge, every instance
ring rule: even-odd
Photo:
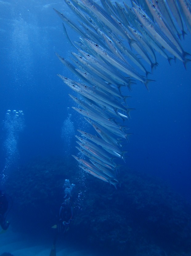
[[[8,221],[5,221],[6,219],[6,211],[8,210],[9,202],[7,200],[5,191],[0,190],[0,225],[3,230],[7,230],[10,223]],[[7,212],[8,213],[8,212]]]

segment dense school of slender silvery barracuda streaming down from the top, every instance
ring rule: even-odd
[[[73,107],[93,126],[96,136],[78,130],[76,148],[89,161],[77,156],[79,167],[93,176],[113,184],[120,184],[117,172],[120,165],[114,159],[125,161],[122,143],[128,140],[124,122],[132,110],[122,88],[131,91],[136,80],[148,89],[148,74],[158,66],[156,52],[169,63],[179,59],[185,66],[190,54],[181,46],[181,40],[191,33],[191,2],[189,0],[132,0],[119,4],[110,0],[64,0],[77,17],[69,20],[64,13],[56,13],[63,21],[64,34],[74,47],[73,64],[56,54],[60,61],[79,79],[74,81],[58,75],[74,90],[78,104]],[[102,5],[102,6],[101,6]],[[66,27],[79,36],[71,42]]]

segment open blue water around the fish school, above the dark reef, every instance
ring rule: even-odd
[[[11,168],[36,157],[67,159],[77,154],[74,135],[86,123],[71,108],[71,90],[56,76],[74,77],[55,55],[69,59],[74,49],[53,8],[70,18],[73,14],[63,1],[0,1],[0,7],[0,171],[6,164],[7,110],[24,114],[17,139],[19,157]],[[77,39],[70,28],[67,31],[71,40]],[[189,53],[190,40],[188,33],[181,41]],[[185,70],[179,60],[170,66],[157,55],[157,62],[149,75],[156,82],[149,84],[149,91],[139,82],[127,91],[128,104],[135,110],[128,122],[133,135],[125,145],[125,167],[159,178],[191,203],[191,63]]]

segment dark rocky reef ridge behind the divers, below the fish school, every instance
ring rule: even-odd
[[[114,255],[191,255],[191,206],[161,180],[124,169],[117,190],[87,174],[84,187],[73,162],[33,159],[10,175],[6,192],[14,202],[8,215],[13,229],[31,233],[40,226],[40,232],[51,233],[69,179],[75,207],[68,241],[110,248]]]

